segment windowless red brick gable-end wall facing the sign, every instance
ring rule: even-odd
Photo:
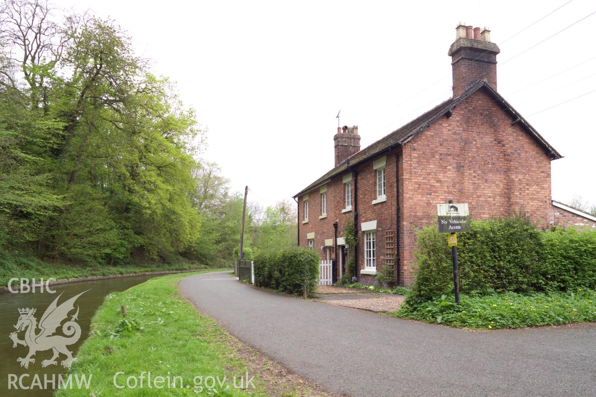
[[[467,202],[474,220],[524,211],[547,227],[551,164],[524,130],[479,90],[403,147],[402,280],[412,281],[412,227],[434,223],[437,203]]]

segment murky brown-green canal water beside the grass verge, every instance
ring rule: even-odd
[[[74,310],[69,312],[68,320],[76,312],[76,308],[79,308],[78,321],[76,321],[81,329],[81,337],[79,341],[73,345],[67,346],[67,348],[73,352],[76,357],[76,352],[79,349],[81,343],[83,343],[86,337],[89,335],[89,326],[91,325],[91,317],[97,311],[97,308],[103,303],[104,298],[108,293],[123,291],[139,283],[145,282],[156,276],[134,276],[134,277],[122,277],[118,279],[105,279],[95,280],[90,282],[71,283],[63,285],[50,286],[50,289],[55,290],[55,293],[38,292],[35,293],[10,293],[6,292],[4,295],[0,295],[0,395],[2,396],[32,396],[32,397],[48,397],[51,396],[53,390],[44,390],[35,387],[35,389],[21,390],[20,387],[14,390],[14,387],[8,390],[9,376],[16,376],[17,379],[23,374],[29,374],[29,377],[23,377],[24,386],[30,386],[33,382],[33,378],[37,374],[39,379],[44,382],[44,374],[48,374],[51,379],[52,374],[66,373],[66,369],[60,365],[66,356],[60,355],[57,358],[57,365],[48,365],[42,368],[42,361],[49,360],[52,358],[52,351],[38,351],[33,358],[35,362],[29,364],[29,368],[23,368],[20,362],[17,362],[17,358],[26,357],[29,348],[23,345],[17,345],[13,348],[13,340],[10,339],[9,335],[16,331],[15,324],[17,324],[19,317],[19,309],[21,308],[35,308],[36,312],[34,317],[41,320],[46,308],[62,293],[60,299],[58,299],[58,305],[66,302],[73,296],[86,291],[83,295],[76,299],[74,304]],[[64,323],[64,321],[63,321]],[[62,327],[58,328],[58,332],[61,335]],[[17,333],[17,337],[20,340],[24,339],[24,335],[27,330],[23,330]],[[36,330],[36,334],[40,330]],[[11,375],[12,374],[12,375]],[[55,376],[58,379],[58,376]],[[74,381],[74,378],[73,378]],[[18,385],[18,381],[17,381]]]

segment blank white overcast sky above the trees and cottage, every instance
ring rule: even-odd
[[[573,0],[507,40],[565,2],[57,4],[128,30],[209,128],[203,157],[221,165],[234,190],[249,185],[251,201],[271,205],[333,167],[340,109],[342,126],[358,124],[364,148],[449,98],[447,51],[459,21],[490,27],[503,64],[596,11],[594,1]],[[596,203],[596,92],[530,115],[596,90],[596,59],[539,82],[596,57],[595,24],[596,14],[497,68],[499,93],[565,156],[552,162],[552,198],[563,202],[580,195]]]

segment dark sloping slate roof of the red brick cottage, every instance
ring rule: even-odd
[[[512,118],[514,123],[519,123],[520,126],[534,139],[538,144],[544,149],[545,154],[551,158],[551,160],[557,160],[558,158],[562,158],[554,148],[538,133],[536,130],[530,126],[530,124],[517,112],[514,110],[511,105],[505,101],[498,92],[496,92],[485,80],[480,80],[476,82],[474,85],[468,87],[465,92],[457,97],[452,97],[447,101],[443,102],[442,104],[437,105],[436,107],[432,108],[431,110],[421,114],[414,120],[410,121],[409,123],[399,127],[397,130],[393,131],[389,135],[382,137],[381,139],[377,140],[377,142],[371,143],[371,145],[367,146],[366,148],[362,149],[359,152],[351,155],[347,160],[340,162],[337,167],[334,167],[327,173],[325,173],[322,177],[315,180],[315,182],[311,183],[305,187],[305,189],[300,190],[299,193],[294,195],[294,198],[297,196],[301,196],[304,193],[307,193],[319,185],[324,185],[324,183],[329,182],[329,180],[333,177],[339,176],[347,171],[349,168],[355,167],[356,165],[371,160],[373,157],[377,157],[383,154],[386,151],[389,151],[396,146],[404,145],[408,143],[408,141],[418,135],[419,133],[426,130],[434,121],[436,121],[439,117],[442,117],[447,112],[451,111],[455,108],[461,101],[468,98],[468,96],[472,95],[479,89],[485,89],[488,91],[489,95],[493,96],[495,99],[495,103],[500,104],[504,111],[506,111]],[[513,123],[512,123],[513,124]]]

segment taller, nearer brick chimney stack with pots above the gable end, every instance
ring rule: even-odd
[[[496,54],[501,50],[491,42],[491,30],[465,26],[455,28],[455,42],[449,48],[453,71],[453,95],[460,96],[479,80],[496,90]]]

